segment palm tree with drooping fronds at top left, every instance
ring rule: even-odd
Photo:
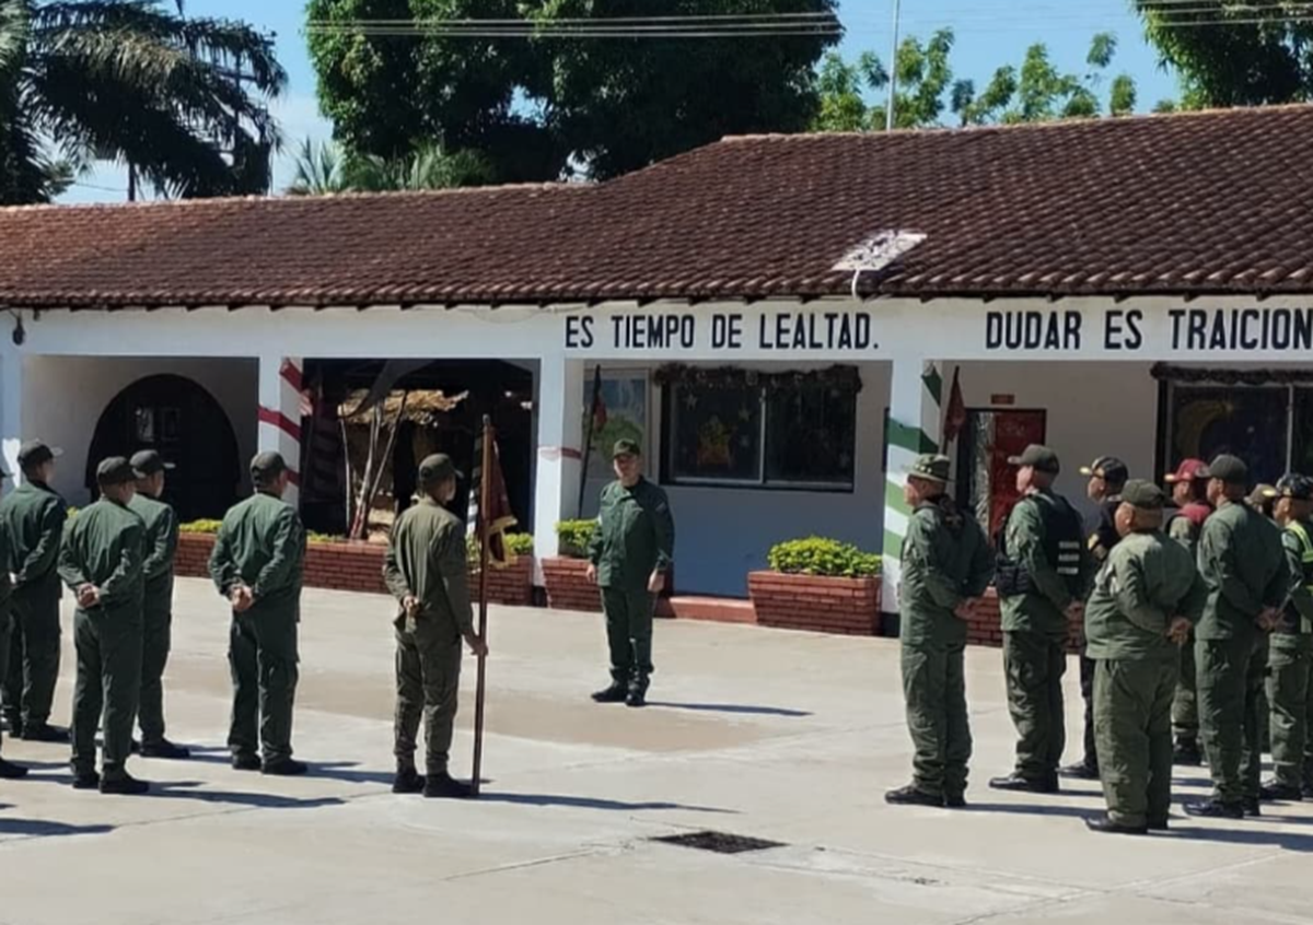
[[[95,159],[165,194],[267,189],[263,98],[288,79],[273,42],[176,7],[0,0],[0,203],[49,202]]]

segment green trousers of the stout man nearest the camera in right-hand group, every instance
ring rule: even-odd
[[[1171,810],[1171,701],[1178,659],[1096,663],[1094,731],[1108,817],[1123,825],[1163,821]]]

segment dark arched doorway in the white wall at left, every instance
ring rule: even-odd
[[[96,424],[87,454],[87,488],[96,496],[96,466],[105,457],[159,450],[177,466],[164,500],[179,520],[218,518],[236,501],[242,467],[232,424],[214,398],[181,375],[150,375],[121,391]]]

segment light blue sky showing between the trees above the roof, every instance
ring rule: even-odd
[[[653,0],[654,7],[659,0]],[[331,126],[319,115],[315,77],[302,34],[303,4],[299,0],[188,0],[189,16],[239,18],[277,34],[278,55],[288,68],[288,91],[274,101],[273,112],[282,122],[288,144],[274,168],[274,186],[291,180],[291,159],[301,139],[327,138]],[[846,55],[867,49],[888,58],[893,0],[842,0],[840,18],[847,28]],[[1090,37],[1112,31],[1120,41],[1113,72],[1125,71],[1140,84],[1140,108],[1175,94],[1175,80],[1157,63],[1145,43],[1138,18],[1129,0],[903,0],[903,34],[928,35],[941,26],[957,35],[953,64],[958,77],[972,77],[978,85],[997,67],[1020,64],[1025,49],[1048,43],[1062,70],[1082,72]],[[83,177],[66,202],[119,202],[127,197],[127,181],[113,164],[101,165]]]

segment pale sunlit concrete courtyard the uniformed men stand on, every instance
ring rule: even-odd
[[[882,792],[909,771],[895,642],[663,622],[635,711],[587,698],[605,680],[597,617],[495,609],[484,796],[452,803],[389,791],[386,598],[306,594],[299,779],[227,766],[223,602],[181,581],[177,614],[169,732],[198,757],[137,760],[156,792],[112,798],[68,786],[64,748],[7,743],[34,777],[0,787],[0,924],[1313,922],[1313,804],[1111,838],[1081,824],[1096,785],[985,789],[1011,752],[994,651],[969,655],[972,808],[893,808]],[[1203,777],[1179,769],[1178,799]],[[651,841],[701,829],[781,846]]]

